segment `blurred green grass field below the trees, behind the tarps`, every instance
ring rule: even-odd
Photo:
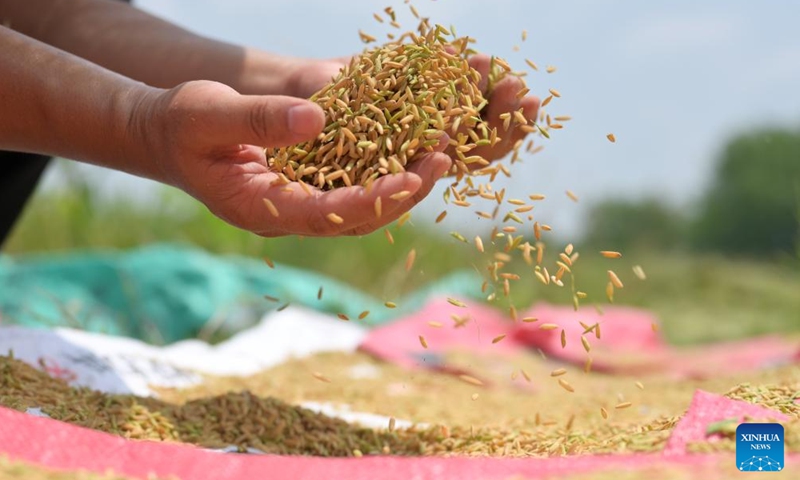
[[[361,238],[298,242],[296,237],[263,239],[229,227],[202,205],[172,190],[164,189],[157,204],[158,208],[146,208],[124,200],[100,201],[80,183],[66,191],[39,192],[4,252],[21,255],[183,243],[214,253],[267,255],[276,262],[344,280],[373,295],[394,298],[449,272],[485,265],[471,245],[420,222],[392,227],[394,245],[389,245],[382,231]],[[550,242],[551,250],[563,248],[564,243]],[[606,270],[613,268],[626,285],[617,292],[616,302],[654,311],[674,343],[800,332],[800,261],[796,257],[765,262],[644,249],[609,260],[597,253],[599,248],[580,242],[575,247],[582,253],[575,268],[578,289],[607,304]],[[417,250],[417,268],[407,274],[404,264],[411,248]],[[647,272],[646,281],[632,274],[631,267],[637,264]],[[570,303],[568,288],[543,287],[521,261],[512,269],[522,274],[511,295],[518,309],[540,300]]]

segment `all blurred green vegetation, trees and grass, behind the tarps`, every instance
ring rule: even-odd
[[[69,188],[36,194],[5,253],[183,243],[219,254],[269,256],[384,297],[484,264],[474,248],[413,220],[392,227],[394,246],[382,231],[362,238],[262,239],[166,187],[150,204],[101,199],[69,165],[59,168],[71,177]],[[582,252],[575,269],[578,288],[606,303],[606,270],[613,268],[626,284],[617,301],[653,310],[675,343],[800,332],[798,132],[771,129],[733,137],[695,204],[679,208],[658,198],[610,198],[591,208],[585,226],[583,238],[569,239]],[[556,251],[568,241],[548,243]],[[403,265],[411,248],[417,249],[420,270],[408,275]],[[609,260],[599,250],[624,256]],[[632,274],[634,265],[643,266],[646,281]],[[542,288],[532,277],[524,275],[512,291],[518,308],[571,301],[568,289]]]

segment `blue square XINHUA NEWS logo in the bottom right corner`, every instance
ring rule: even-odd
[[[743,423],[736,428],[736,468],[742,472],[783,470],[783,425]]]

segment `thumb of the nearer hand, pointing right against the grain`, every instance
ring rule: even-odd
[[[220,141],[284,147],[317,136],[325,126],[319,105],[295,97],[238,95],[217,116]]]

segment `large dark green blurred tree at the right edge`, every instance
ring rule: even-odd
[[[769,256],[800,240],[800,132],[765,130],[733,138],[693,225],[696,247]]]

